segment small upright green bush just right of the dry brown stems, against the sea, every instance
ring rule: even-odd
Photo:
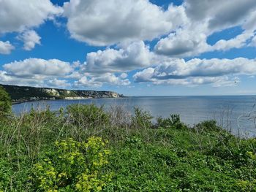
[[[152,116],[149,112],[135,107],[135,115],[132,116],[132,126],[135,128],[151,128]]]

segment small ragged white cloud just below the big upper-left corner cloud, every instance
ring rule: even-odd
[[[24,46],[23,46],[24,50],[32,50],[36,45],[41,44],[40,42],[41,37],[39,37],[37,32],[34,30],[23,32],[23,34],[20,34],[18,39],[24,42]]]

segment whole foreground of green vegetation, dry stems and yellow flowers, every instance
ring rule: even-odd
[[[256,191],[256,139],[94,105],[0,120],[0,191]]]

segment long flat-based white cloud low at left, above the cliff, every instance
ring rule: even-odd
[[[45,60],[42,58],[27,58],[23,61],[14,61],[4,64],[4,69],[8,74],[16,77],[62,77],[72,72],[69,63],[58,59]]]

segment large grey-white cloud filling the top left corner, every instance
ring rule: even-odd
[[[50,0],[0,0],[0,4],[0,33],[37,27],[62,12],[61,7],[54,6]]]

